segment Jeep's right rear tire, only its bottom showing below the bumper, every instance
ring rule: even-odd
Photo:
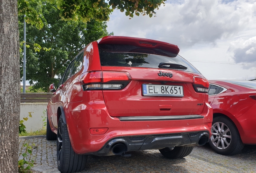
[[[194,147],[174,147],[174,148],[164,148],[159,149],[160,153],[169,159],[178,159],[188,156]]]

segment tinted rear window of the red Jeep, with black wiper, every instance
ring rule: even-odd
[[[98,44],[98,46],[101,66],[167,68],[200,73],[184,58],[166,50],[124,44]],[[163,62],[167,63],[159,66]]]

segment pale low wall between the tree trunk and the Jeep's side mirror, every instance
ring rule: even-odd
[[[21,114],[20,114],[20,120],[23,120],[23,118],[28,117],[29,112],[32,112],[32,118],[28,117],[29,119],[27,121],[24,121],[23,124],[26,126],[26,131],[37,131],[42,129],[43,127],[43,118],[46,118],[46,108],[47,103],[21,103]],[[43,114],[43,111],[45,111],[45,115]],[[44,121],[46,123],[46,119]],[[45,126],[46,128],[46,126]]]

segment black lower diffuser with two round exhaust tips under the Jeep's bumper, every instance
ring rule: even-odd
[[[120,155],[129,151],[163,149],[165,147],[177,146],[204,145],[208,141],[208,131],[171,135],[119,137],[109,140],[101,150],[91,154],[98,156]]]

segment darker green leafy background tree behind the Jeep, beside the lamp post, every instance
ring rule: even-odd
[[[39,48],[51,48],[50,51],[36,51],[35,47],[27,48],[26,79],[33,84],[34,89],[47,91],[51,83],[58,83],[64,70],[76,54],[89,42],[108,35],[105,22],[91,20],[62,20],[56,4],[41,2],[43,27],[27,25],[26,42],[39,44]],[[23,17],[20,17],[20,41],[23,40]],[[37,48],[38,48],[37,47]],[[21,62],[21,77],[23,74],[23,58]],[[56,78],[57,77],[57,78]]]

